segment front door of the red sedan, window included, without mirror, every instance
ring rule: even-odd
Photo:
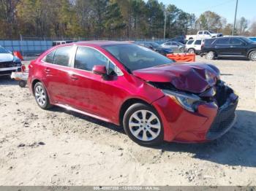
[[[121,100],[124,77],[118,75],[116,66],[105,55],[91,47],[80,46],[74,58],[72,75],[76,77],[72,81],[69,90],[74,100],[73,106],[83,112],[95,114],[99,117],[116,120],[116,113]],[[94,74],[92,69],[96,65],[106,66],[109,79]]]

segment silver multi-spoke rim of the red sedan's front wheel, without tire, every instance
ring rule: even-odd
[[[153,112],[138,110],[129,117],[129,130],[140,141],[152,141],[159,136],[161,123]]]

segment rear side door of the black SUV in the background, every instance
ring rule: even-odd
[[[214,50],[218,55],[230,55],[230,39],[220,38],[214,42]]]

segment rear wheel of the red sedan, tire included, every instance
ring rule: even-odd
[[[38,106],[42,109],[49,109],[52,106],[45,86],[41,82],[37,82],[34,85],[34,98],[36,98]]]

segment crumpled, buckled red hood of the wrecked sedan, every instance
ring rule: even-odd
[[[178,90],[203,93],[216,84],[219,69],[206,63],[172,63],[135,70],[133,74],[147,82],[170,82]]]

